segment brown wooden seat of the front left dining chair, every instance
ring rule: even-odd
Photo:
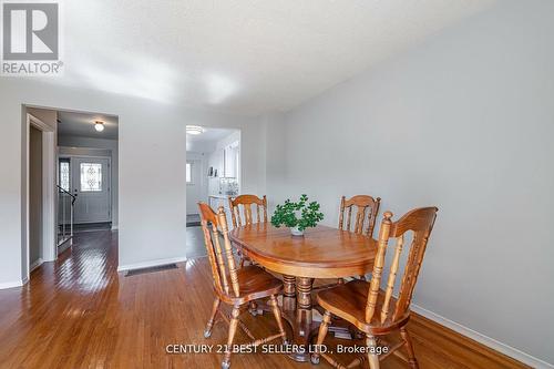
[[[230,287],[230,276],[227,275],[229,283],[229,294],[219,296],[223,301],[228,304],[239,304],[277,295],[283,289],[283,281],[258,266],[249,265],[237,270],[239,296],[233,294]]]

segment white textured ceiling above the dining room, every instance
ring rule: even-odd
[[[495,0],[65,1],[52,83],[286,111]]]

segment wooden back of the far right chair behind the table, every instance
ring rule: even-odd
[[[355,232],[360,235],[373,236],[373,228],[376,225],[377,214],[381,198],[373,198],[368,195],[356,195],[347,199],[345,196],[340,198],[340,213],[339,213],[339,229]],[[356,207],[356,217],[352,223],[352,208]],[[346,214],[346,228],[345,228],[345,212]],[[366,216],[367,214],[367,216]],[[367,221],[367,225],[366,225]]]

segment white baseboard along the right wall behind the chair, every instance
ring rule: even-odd
[[[548,363],[544,360],[537,359],[529,353],[525,353],[516,348],[513,348],[511,346],[507,346],[505,344],[502,344],[494,338],[488,337],[483,334],[480,334],[471,328],[468,328],[465,326],[462,326],[461,324],[458,324],[455,321],[452,321],[448,318],[444,318],[443,316],[440,316],[433,311],[430,311],[428,309],[422,308],[421,306],[418,306],[416,304],[412,304],[410,309],[413,312],[417,312],[419,315],[424,316],[428,319],[431,319],[433,321],[437,321],[438,324],[450,328],[460,335],[463,335],[465,337],[469,337],[486,347],[492,348],[493,350],[496,350],[499,352],[502,352],[511,358],[514,358],[517,361],[521,361],[523,363],[526,363],[527,366],[531,366],[536,369],[552,369],[554,368],[554,365]]]

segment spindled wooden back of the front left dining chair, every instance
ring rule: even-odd
[[[214,286],[219,293],[238,297],[240,295],[237,267],[228,237],[225,209],[219,206],[215,213],[209,205],[198,203],[204,243],[208,254]],[[223,245],[222,245],[223,238]]]

